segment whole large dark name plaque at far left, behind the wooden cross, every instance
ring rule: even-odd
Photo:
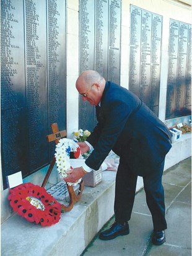
[[[65,9],[64,1],[1,1],[4,188],[7,175],[49,163],[51,122],[65,129]]]

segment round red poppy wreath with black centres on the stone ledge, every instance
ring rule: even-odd
[[[59,222],[61,204],[45,188],[24,183],[9,190],[8,199],[15,213],[29,222],[51,226]]]

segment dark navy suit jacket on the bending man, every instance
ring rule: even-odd
[[[98,170],[113,150],[139,176],[158,169],[172,147],[171,134],[141,99],[108,81],[96,112],[98,124],[87,138],[94,147],[85,161],[90,168]]]

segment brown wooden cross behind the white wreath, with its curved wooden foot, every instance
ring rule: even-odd
[[[51,124],[51,129],[53,131],[53,134],[46,136],[46,139],[48,140],[48,142],[55,141],[55,143],[58,144],[59,139],[61,139],[62,137],[66,137],[66,135],[67,135],[66,130],[59,131],[58,124],[56,124],[56,123]],[[51,160],[50,167],[48,168],[48,171],[46,172],[45,178],[41,185],[43,188],[45,187],[45,185],[48,181],[51,171],[53,170],[53,167],[55,165],[55,162],[56,162],[56,159],[55,159],[55,155],[54,155]],[[68,192],[69,192],[69,205],[64,206],[64,204],[61,204],[61,209],[63,209],[64,211],[71,211],[74,204],[77,201],[79,201],[79,199],[81,198],[82,191],[84,190],[84,181],[82,180],[81,183],[79,184],[79,191],[77,194],[74,192],[73,186],[69,186],[68,183],[67,183],[67,188],[68,188]]]

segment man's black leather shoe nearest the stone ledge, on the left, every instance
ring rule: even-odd
[[[124,222],[124,224],[120,224],[117,222],[114,222],[110,229],[107,229],[106,231],[103,231],[99,234],[99,238],[102,240],[111,240],[115,237],[118,237],[118,235],[128,235],[129,234],[129,224],[128,222]]]

